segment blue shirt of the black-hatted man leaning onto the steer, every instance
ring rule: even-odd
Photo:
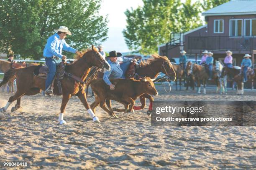
[[[116,62],[112,62],[111,60],[108,60],[108,63],[110,65],[110,70],[105,71],[103,75],[103,80],[107,85],[111,85],[110,78],[120,78],[123,75],[123,70],[120,67],[120,62],[129,62],[133,60],[132,58],[127,57],[118,57]]]

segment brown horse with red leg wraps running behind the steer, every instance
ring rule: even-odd
[[[136,70],[136,73],[140,77],[150,77],[151,79],[156,79],[159,72],[163,72],[166,76],[169,76],[174,81],[176,80],[176,72],[174,71],[172,63],[166,56],[151,55],[151,58],[148,59],[146,62],[142,61],[138,69]],[[97,75],[95,77],[102,78],[103,74],[101,73],[101,76]],[[134,110],[143,109],[146,105],[146,98],[150,100],[149,110],[147,113],[148,115],[151,115],[154,98],[151,95],[148,95],[147,93],[140,96],[141,106],[134,106],[133,108]],[[125,109],[115,108],[114,111],[124,112]]]

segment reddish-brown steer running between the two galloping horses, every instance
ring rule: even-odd
[[[125,105],[125,112],[131,112],[134,106],[134,100],[144,93],[150,95],[158,95],[154,83],[150,78],[144,78],[141,80],[134,79],[110,79],[115,90],[110,90],[102,79],[91,80],[88,85],[91,84],[92,91],[95,93],[95,101],[91,105],[91,109],[95,112],[95,107],[100,105],[102,109],[108,112],[109,115],[117,117],[111,108],[110,100],[115,100]],[[108,108],[105,106],[108,105]],[[128,107],[130,105],[130,107]]]

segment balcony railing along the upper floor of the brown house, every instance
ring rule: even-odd
[[[251,51],[256,49],[256,37],[199,36],[188,37],[189,50],[233,50]]]

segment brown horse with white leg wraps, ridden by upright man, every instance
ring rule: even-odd
[[[80,58],[70,64],[66,67],[66,72],[70,73],[76,77],[81,78],[83,81],[86,79],[90,67],[102,67],[107,70],[110,70],[110,65],[108,62],[106,62],[102,55],[98,52],[98,50],[92,45],[92,50],[87,50],[83,55],[80,56]],[[36,77],[33,74],[33,71],[38,66],[31,66],[31,67],[25,67],[20,69],[14,69],[9,70],[5,73],[3,82],[0,83],[0,87],[7,83],[10,78],[17,75],[17,92],[11,96],[5,105],[5,107],[2,107],[0,109],[1,112],[5,112],[10,104],[17,100],[17,104],[15,107],[12,108],[11,111],[15,111],[18,108],[20,108],[20,99],[23,95],[35,95],[41,90],[45,89],[45,81],[44,79],[41,79],[39,77]],[[95,116],[95,114],[90,109],[86,96],[84,93],[84,85],[81,85],[76,80],[70,78],[69,76],[64,76],[61,80],[61,87],[62,87],[62,103],[61,103],[61,109],[60,109],[60,116],[59,116],[59,123],[65,124],[65,120],[63,120],[63,114],[65,112],[65,107],[67,105],[67,102],[69,101],[70,97],[73,95],[76,95],[79,97],[81,102],[83,103],[84,107],[87,109],[89,114],[92,116],[93,121],[98,121],[98,118]],[[57,87],[57,83],[54,83],[54,94],[55,95],[61,95],[59,94],[59,90]]]

